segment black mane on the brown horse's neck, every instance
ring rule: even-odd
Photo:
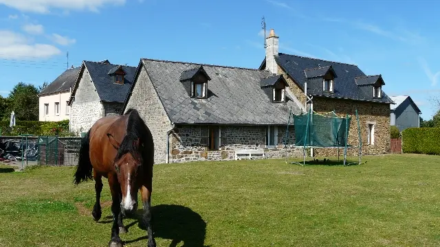
[[[125,115],[129,115],[129,119],[126,125],[126,135],[120,143],[118,154],[116,154],[116,160],[120,159],[124,154],[130,152],[135,158],[144,159],[146,152],[142,152],[144,145],[147,145],[147,137],[151,136],[144,120],[140,117],[137,110],[130,108],[126,111]],[[135,146],[136,139],[139,138],[139,146]],[[141,152],[141,156],[139,156]],[[142,160],[141,160],[142,163]]]

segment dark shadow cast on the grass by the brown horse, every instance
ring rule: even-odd
[[[136,215],[130,216],[135,221],[125,227],[129,229],[137,224],[139,228],[146,231],[141,219],[142,213],[142,209],[138,209]],[[195,211],[179,205],[162,204],[151,207],[151,215],[154,237],[171,239],[170,247],[175,247],[180,242],[184,243],[182,246],[205,247],[203,244],[206,236],[206,222]],[[107,223],[107,221],[101,223]],[[147,239],[147,236],[124,241],[124,244],[131,244],[142,239]]]

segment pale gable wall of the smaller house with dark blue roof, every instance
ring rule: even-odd
[[[89,131],[91,126],[103,117],[103,112],[100,98],[86,68],[72,103],[70,130],[77,134]]]

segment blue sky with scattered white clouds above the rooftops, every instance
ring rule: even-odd
[[[52,82],[82,60],[140,58],[257,68],[261,17],[280,52],[357,64],[430,119],[440,95],[434,1],[0,0],[0,94]]]

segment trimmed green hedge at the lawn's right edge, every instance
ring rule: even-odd
[[[407,128],[401,136],[404,153],[440,155],[440,128]]]

